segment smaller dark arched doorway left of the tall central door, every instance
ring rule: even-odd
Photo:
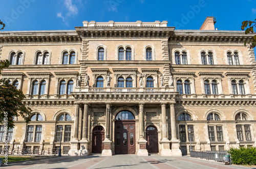
[[[101,153],[104,149],[104,128],[102,126],[96,126],[93,129],[92,137],[92,153]]]

